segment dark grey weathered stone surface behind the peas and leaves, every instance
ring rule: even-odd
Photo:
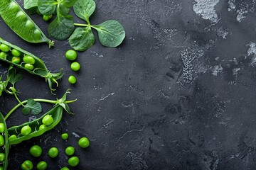
[[[22,4],[19,0],[18,3]],[[17,84],[21,100],[61,97],[66,89],[74,116],[64,115],[50,132],[11,147],[10,169],[26,159],[46,160],[49,169],[67,166],[65,147],[80,157],[75,169],[256,169],[256,22],[255,0],[97,0],[92,24],[114,19],[127,37],[117,48],[97,39],[78,52],[80,72],[65,60],[68,41],[55,47],[33,45],[15,35],[0,19],[0,37],[46,62],[64,76],[52,96],[41,77],[23,73]],[[198,8],[197,8],[198,7]],[[46,33],[48,23],[31,16]],[[82,23],[78,18],[76,22]],[[96,33],[95,33],[96,35]],[[7,69],[1,64],[1,74]],[[70,74],[78,78],[72,86]],[[1,96],[4,114],[16,105]],[[50,106],[43,105],[47,111]],[[28,121],[20,111],[7,121]],[[68,132],[67,142],[60,134]],[[78,137],[91,145],[80,149]],[[34,159],[28,150],[43,147]],[[47,150],[56,146],[57,159]]]

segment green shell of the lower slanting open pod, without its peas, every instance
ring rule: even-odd
[[[53,123],[51,123],[50,125],[46,126],[43,129],[39,129],[39,127],[43,125],[42,120],[46,115],[52,116]],[[62,116],[63,116],[63,108],[57,105],[36,120],[9,128],[8,129],[8,133],[10,136],[9,145],[16,145],[23,142],[24,140],[30,140],[32,137],[38,137],[40,135],[43,135],[44,132],[47,132],[48,130],[53,129],[56,125],[58,125]],[[23,136],[21,135],[21,129],[26,125],[28,125],[31,128],[31,133],[29,133],[26,136]]]

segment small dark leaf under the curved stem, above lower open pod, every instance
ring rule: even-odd
[[[41,113],[42,107],[41,104],[34,101],[32,98],[29,98],[25,107],[22,109],[22,113],[24,115],[28,115],[29,113],[32,113],[33,115],[38,115]]]

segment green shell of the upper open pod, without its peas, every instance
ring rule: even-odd
[[[58,86],[57,80],[60,79],[63,76],[63,74],[61,74],[60,72],[59,73],[50,73],[48,71],[48,69],[46,68],[46,65],[43,63],[43,61],[40,58],[36,57],[35,55],[31,54],[30,52],[22,50],[20,47],[17,47],[16,45],[12,45],[10,42],[7,42],[6,40],[3,40],[1,38],[0,38],[0,42],[1,42],[1,44],[8,45],[10,47],[10,50],[8,52],[6,52],[6,57],[4,57],[4,58],[0,57],[0,61],[8,62],[9,64],[14,64],[14,66],[21,68],[21,69],[25,69],[27,72],[29,72],[31,74],[36,74],[40,77],[46,78],[46,81],[48,81],[48,86],[50,87],[51,91],[54,90],[54,89],[52,89],[53,83],[57,84],[57,86]],[[21,63],[13,62],[13,55],[11,54],[11,50],[14,50],[14,49],[21,52],[21,55],[19,56],[19,57],[21,57],[21,61],[23,61],[22,59],[26,55],[29,55],[35,59],[35,63],[33,64],[33,69],[27,69],[27,67],[25,67],[26,62],[21,62]]]

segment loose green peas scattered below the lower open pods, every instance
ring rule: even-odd
[[[67,140],[68,139],[68,133],[63,133],[61,135],[63,140]],[[82,148],[86,148],[90,146],[90,141],[87,139],[87,137],[81,137],[80,140],[78,141],[78,145]],[[31,155],[33,157],[40,157],[43,149],[38,146],[38,145],[33,145],[33,147],[31,147],[31,149],[29,149],[29,152],[31,153]],[[70,158],[68,159],[68,164],[72,167],[78,166],[80,160],[78,157],[73,156],[73,154],[75,154],[75,148],[74,147],[67,147],[65,149],[65,154],[67,154],[68,156],[70,156]],[[55,158],[58,156],[58,148],[57,147],[51,147],[48,150],[48,156],[50,158]],[[71,157],[72,156],[72,157]],[[36,169],[38,170],[45,170],[47,169],[48,164],[45,161],[41,161],[36,165]],[[23,170],[31,170],[33,169],[33,163],[30,160],[26,160],[25,162],[23,162],[23,164],[21,164],[21,169]],[[63,167],[60,170],[69,170],[68,167]]]

